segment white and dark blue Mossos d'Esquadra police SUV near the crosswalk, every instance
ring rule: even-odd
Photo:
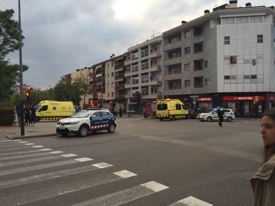
[[[95,133],[101,130],[113,133],[116,125],[116,117],[109,111],[81,111],[69,118],[59,120],[56,125],[56,133],[65,137],[68,134],[78,134],[79,137],[85,137],[89,132]]]

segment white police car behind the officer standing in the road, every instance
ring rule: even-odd
[[[235,119],[235,114],[232,109],[223,109],[225,116],[223,116],[223,120],[227,120],[231,122]],[[218,109],[208,109],[204,113],[201,113],[197,116],[197,119],[200,121],[206,120],[207,122],[211,122],[212,120],[219,120],[218,117]]]

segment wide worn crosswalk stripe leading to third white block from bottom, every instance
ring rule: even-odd
[[[80,180],[74,181],[73,184],[72,182],[67,182],[64,184],[60,183],[55,186],[47,187],[47,190],[41,187],[39,189],[36,189],[35,191],[25,190],[24,192],[18,193],[18,194],[13,194],[13,195],[8,194],[6,196],[2,195],[1,204],[14,205],[14,202],[19,202],[20,205],[23,205],[30,202],[45,200],[51,197],[56,197],[59,195],[68,194],[79,190],[84,190],[90,187],[95,187],[98,185],[103,185],[103,184],[107,184],[107,183],[114,182],[117,180],[122,180],[122,179],[123,179],[122,177],[115,175],[113,173],[100,175],[96,177],[89,176],[86,178],[85,178],[85,175],[83,175],[83,178],[81,178]]]

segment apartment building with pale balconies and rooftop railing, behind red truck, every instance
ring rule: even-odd
[[[124,64],[128,66],[125,72],[126,97],[136,97],[130,109],[142,113],[146,102],[163,97],[162,36],[158,33],[138,41],[125,54],[127,61]]]

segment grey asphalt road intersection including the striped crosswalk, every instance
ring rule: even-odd
[[[0,142],[1,205],[252,204],[261,122],[117,122],[113,134]]]

